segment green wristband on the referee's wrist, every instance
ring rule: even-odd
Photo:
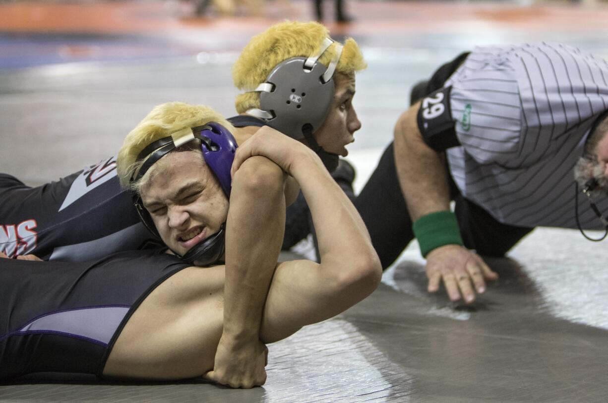
[[[463,245],[456,215],[452,212],[437,212],[422,216],[412,226],[420,244],[420,253],[426,255],[444,245]]]

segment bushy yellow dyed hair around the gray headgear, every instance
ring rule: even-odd
[[[309,57],[318,52],[323,40],[330,36],[329,30],[319,22],[280,22],[254,36],[244,47],[237,62],[232,66],[232,80],[241,91],[251,91],[266,81],[268,74],[277,64],[292,57]],[[323,52],[319,62],[325,67],[336,54],[337,44],[333,43]],[[348,38],[336,66],[336,73],[353,75],[365,69],[359,45]],[[238,113],[250,108],[260,108],[260,93],[245,92],[237,95],[235,102]]]

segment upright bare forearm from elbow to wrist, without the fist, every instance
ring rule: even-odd
[[[285,229],[285,174],[265,157],[234,175],[226,230],[224,336],[258,339],[266,295]]]

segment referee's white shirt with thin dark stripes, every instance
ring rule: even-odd
[[[506,224],[576,228],[573,167],[608,109],[606,61],[558,43],[478,47],[449,85],[461,146],[447,159],[463,195]],[[581,226],[603,228],[578,197]]]

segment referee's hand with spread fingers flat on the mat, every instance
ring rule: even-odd
[[[444,245],[426,255],[426,277],[429,292],[437,292],[443,280],[450,300],[463,298],[466,303],[475,300],[475,292],[486,291],[486,280],[498,280],[477,253],[460,245]]]

